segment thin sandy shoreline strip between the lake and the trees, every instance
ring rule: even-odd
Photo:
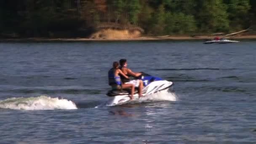
[[[136,40],[205,40],[208,36],[144,36],[137,38],[127,38],[127,39],[92,39],[92,38],[45,38],[45,37],[32,37],[32,38],[0,38],[0,42],[8,41],[136,41]],[[232,37],[227,39],[256,39],[256,35],[245,35]]]

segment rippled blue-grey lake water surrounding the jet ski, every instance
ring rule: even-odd
[[[122,58],[175,94],[105,106],[107,71]],[[256,141],[256,41],[0,43],[0,62],[0,143]]]

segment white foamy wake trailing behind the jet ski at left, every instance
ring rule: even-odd
[[[0,101],[2,109],[47,110],[47,109],[77,109],[72,101],[67,99],[38,96],[30,98],[10,98]]]

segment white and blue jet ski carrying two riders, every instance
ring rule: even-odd
[[[139,77],[135,77],[135,79],[139,79],[143,81],[144,88],[142,89],[142,94],[144,96],[157,93],[160,91],[169,91],[172,87],[173,83],[167,80],[163,80],[160,77],[154,77],[144,72],[141,72],[142,75]],[[111,90],[107,92],[107,96],[109,96],[109,101],[107,105],[120,105],[125,104],[130,101],[138,100],[139,94],[138,89],[135,89],[133,100],[131,100],[130,89],[125,90]]]

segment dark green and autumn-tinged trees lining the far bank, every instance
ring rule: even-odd
[[[145,35],[232,32],[256,24],[256,0],[1,0],[0,34],[87,36],[99,24],[132,24]]]

